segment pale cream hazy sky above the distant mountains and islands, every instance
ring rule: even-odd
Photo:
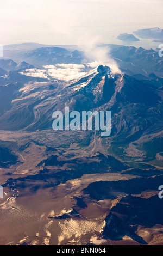
[[[0,44],[85,44],[162,26],[163,0],[0,0]]]

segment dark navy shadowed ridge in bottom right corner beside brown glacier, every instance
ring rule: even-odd
[[[147,244],[139,232],[135,234],[137,226],[152,228],[156,224],[162,225],[161,211],[162,204],[158,196],[147,199],[133,196],[123,197],[106,216],[103,235],[111,240],[121,240],[127,235],[138,243]]]

